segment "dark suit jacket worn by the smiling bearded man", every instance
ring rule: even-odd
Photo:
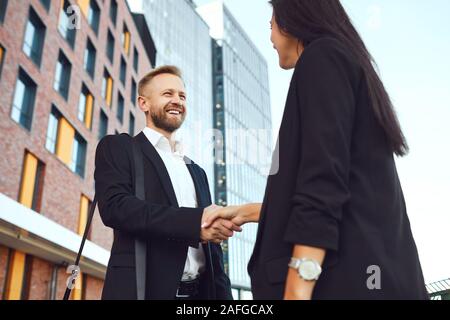
[[[188,247],[198,247],[203,208],[211,204],[206,174],[187,160],[194,181],[198,208],[180,208],[163,160],[141,132],[138,140],[144,159],[145,199],[134,191],[132,138],[106,136],[95,158],[95,191],[103,223],[114,229],[102,299],[137,298],[135,239],[146,244],[146,299],[173,299],[181,280]],[[204,299],[232,299],[224,272],[222,249],[203,245],[206,255]]]

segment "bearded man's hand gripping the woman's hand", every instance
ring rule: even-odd
[[[202,225],[205,221],[208,221],[215,216],[216,210],[221,208],[223,207],[216,206],[214,204],[205,208],[202,216]],[[222,241],[232,237],[235,231],[241,232],[242,229],[240,226],[229,220],[219,218],[215,219],[209,227],[201,228],[200,239],[202,242],[213,242],[219,244],[222,243]]]

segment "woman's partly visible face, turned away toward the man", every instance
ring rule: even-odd
[[[270,41],[278,52],[280,67],[285,70],[294,68],[303,52],[303,45],[297,38],[280,30],[275,15],[272,15],[270,28],[272,29]]]

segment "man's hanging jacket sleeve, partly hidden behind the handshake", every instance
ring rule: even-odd
[[[212,203],[211,193],[209,190],[209,183],[206,173],[201,169],[206,187],[208,192],[209,202]],[[216,288],[216,299],[217,300],[233,300],[233,295],[231,293],[231,282],[230,278],[225,273],[225,267],[223,263],[223,252],[222,247],[215,243],[209,243],[211,248],[211,259],[214,270],[214,286]]]

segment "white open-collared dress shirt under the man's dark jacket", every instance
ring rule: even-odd
[[[169,140],[161,133],[146,127],[144,129],[144,134],[155,147],[166,166],[177,197],[178,205],[185,208],[196,208],[197,195],[195,193],[195,186],[184,161],[181,141],[174,135],[175,150],[172,151]],[[181,280],[195,279],[199,277],[204,269],[205,253],[203,252],[202,245],[200,244],[198,249],[189,247]]]

